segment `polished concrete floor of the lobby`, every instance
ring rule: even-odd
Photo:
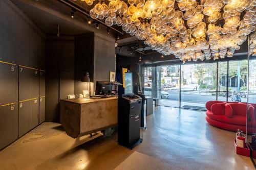
[[[44,123],[0,152],[0,169],[254,169],[234,153],[234,135],[208,125],[202,111],[159,106],[134,150],[118,145],[116,133],[73,139]]]

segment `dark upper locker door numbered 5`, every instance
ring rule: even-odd
[[[0,62],[0,106],[17,102],[17,66]]]

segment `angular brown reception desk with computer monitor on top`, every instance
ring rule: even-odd
[[[60,101],[60,123],[73,138],[117,125],[118,98]]]

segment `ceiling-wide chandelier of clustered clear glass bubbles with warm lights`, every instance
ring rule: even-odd
[[[92,18],[104,19],[109,27],[120,26],[153,50],[173,54],[183,63],[232,57],[255,31],[256,0],[80,1],[95,4]],[[255,33],[251,39],[255,55]]]

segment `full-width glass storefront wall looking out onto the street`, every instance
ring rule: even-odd
[[[247,60],[146,65],[143,68],[144,94],[159,98],[161,106],[199,110],[205,110],[208,101],[246,102],[247,70]],[[255,70],[252,66],[251,75]],[[250,80],[256,81],[256,77]],[[255,98],[250,100],[255,103],[256,88],[253,91],[254,86],[251,86],[249,94]]]

